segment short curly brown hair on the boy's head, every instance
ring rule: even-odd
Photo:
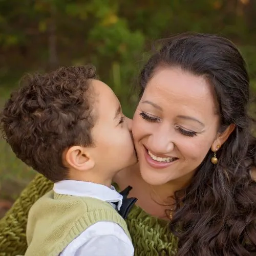
[[[53,182],[68,178],[63,152],[93,146],[93,66],[61,67],[48,74],[26,75],[0,114],[3,137],[16,156]]]

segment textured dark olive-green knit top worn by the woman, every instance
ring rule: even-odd
[[[15,256],[27,249],[27,216],[33,203],[52,189],[53,183],[41,175],[24,189],[13,207],[0,220],[0,256]],[[134,206],[127,218],[135,256],[175,255],[178,240],[167,227],[167,222],[152,217]]]

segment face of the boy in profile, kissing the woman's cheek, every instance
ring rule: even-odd
[[[137,162],[131,133],[132,120],[122,114],[120,102],[110,87],[99,80],[92,80],[91,84],[96,113],[92,154],[96,170],[112,178],[119,170]]]

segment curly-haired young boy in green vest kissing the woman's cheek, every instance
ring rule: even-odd
[[[93,67],[25,77],[1,127],[16,156],[54,182],[29,212],[25,255],[133,255],[123,197],[111,186],[137,162],[131,123]]]

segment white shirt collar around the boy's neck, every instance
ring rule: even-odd
[[[122,205],[122,195],[120,195],[114,186],[111,188],[86,181],[62,180],[54,183],[53,191],[61,195],[70,195],[78,197],[93,197],[108,203],[117,203],[117,209]]]

